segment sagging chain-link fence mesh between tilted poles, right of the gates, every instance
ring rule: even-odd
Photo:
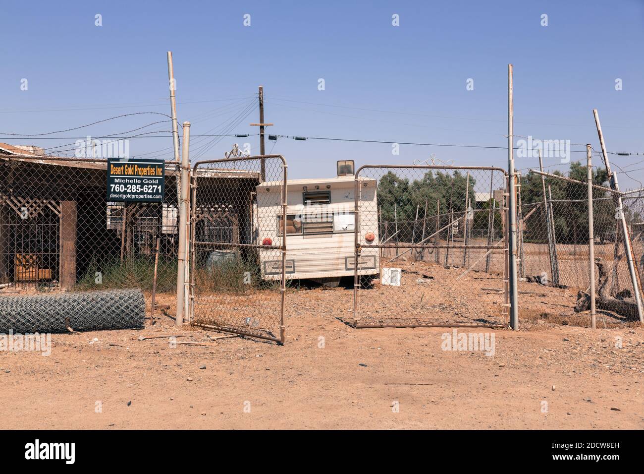
[[[585,170],[584,170],[585,172]],[[635,288],[629,271],[625,240],[632,248],[636,281],[644,272],[643,196],[605,188],[593,172],[595,288],[598,310],[612,321],[638,319]],[[569,177],[531,172],[522,177],[517,241],[519,276],[578,292],[576,310],[586,311],[590,288],[588,185]],[[623,232],[619,197],[627,224]],[[619,311],[610,311],[618,309]]]

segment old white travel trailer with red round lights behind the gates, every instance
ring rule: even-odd
[[[328,179],[293,179],[287,184],[287,279],[310,279],[337,286],[341,277],[354,276],[355,176],[352,161],[339,161],[338,174]],[[378,239],[375,179],[359,179],[359,242],[365,234]],[[254,204],[256,240],[281,241],[281,183],[261,183]],[[274,250],[260,250],[261,276],[279,279],[281,261]],[[360,275],[378,275],[377,248],[363,249]]]

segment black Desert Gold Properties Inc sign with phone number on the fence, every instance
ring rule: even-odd
[[[108,159],[108,201],[163,202],[163,160]]]

